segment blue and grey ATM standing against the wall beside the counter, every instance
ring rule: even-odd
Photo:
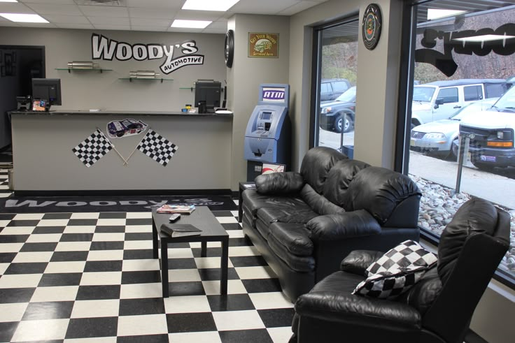
[[[245,131],[244,157],[247,180],[261,174],[263,163],[290,167],[291,124],[288,116],[290,85],[262,84],[259,101]]]

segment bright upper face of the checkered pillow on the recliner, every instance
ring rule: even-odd
[[[421,245],[413,240],[407,240],[397,247],[390,249],[379,258],[375,263],[367,268],[367,276],[372,276],[380,272],[392,272],[400,268],[429,267],[437,262],[437,256],[425,250]]]

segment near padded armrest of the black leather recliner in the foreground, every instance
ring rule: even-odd
[[[421,327],[421,314],[414,307],[341,291],[303,294],[295,302],[295,312],[300,316],[358,326]]]

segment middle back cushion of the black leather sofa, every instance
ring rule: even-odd
[[[331,203],[343,207],[348,185],[351,184],[351,181],[360,170],[369,166],[368,163],[355,159],[343,159],[338,161],[327,174],[323,196]]]

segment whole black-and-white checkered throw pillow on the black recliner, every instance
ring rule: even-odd
[[[413,240],[390,249],[365,271],[367,279],[360,282],[353,294],[372,298],[395,298],[410,289],[425,272],[437,263],[437,256]]]

